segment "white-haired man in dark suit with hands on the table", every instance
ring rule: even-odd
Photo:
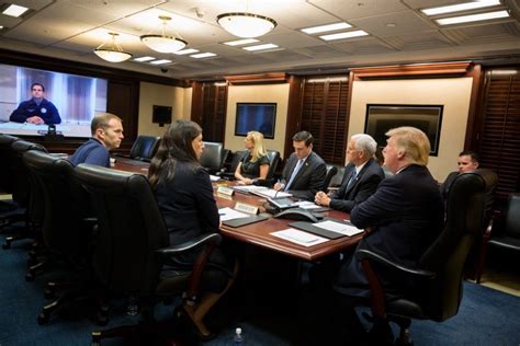
[[[324,192],[316,194],[316,204],[336,210],[350,212],[352,208],[369,198],[385,177],[380,164],[373,159],[377,143],[365,134],[350,138],[347,146],[347,160],[341,187],[329,196]]]

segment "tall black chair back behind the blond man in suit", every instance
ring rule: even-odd
[[[497,174],[475,170],[460,174],[448,194],[446,220],[433,244],[422,255],[419,266],[437,273],[417,295],[423,313],[444,321],[455,315],[463,293],[463,269],[467,254],[481,237],[486,218],[486,195],[495,187]]]

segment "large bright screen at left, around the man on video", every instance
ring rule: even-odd
[[[56,125],[56,131],[65,137],[90,137],[92,117],[106,112],[105,79],[10,65],[0,65],[0,76],[2,134],[37,136],[47,131],[49,124],[29,124],[16,116],[11,118],[11,114],[19,108],[20,103],[32,99],[33,83],[44,85],[43,96],[55,105],[59,114],[60,122]],[[42,107],[38,112],[49,111]]]

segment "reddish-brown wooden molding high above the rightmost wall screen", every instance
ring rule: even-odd
[[[353,80],[462,77],[471,73],[473,66],[471,61],[461,61],[353,68],[351,76]]]

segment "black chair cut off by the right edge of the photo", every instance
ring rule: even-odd
[[[477,284],[481,282],[484,272],[488,246],[504,252],[520,254],[520,193],[509,195],[506,214],[501,217],[502,220],[500,220],[499,217],[491,219],[489,227],[484,233],[483,247],[476,273]]]

